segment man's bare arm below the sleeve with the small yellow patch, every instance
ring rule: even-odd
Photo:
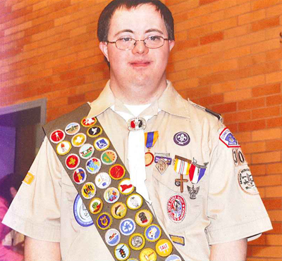
[[[61,261],[60,243],[25,237],[25,261]]]

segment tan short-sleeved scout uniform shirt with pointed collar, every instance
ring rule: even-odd
[[[112,105],[129,113],[114,98],[108,83],[91,103],[89,116],[97,116],[128,168],[127,123],[109,108]],[[159,100],[140,117],[146,115],[154,116],[145,132],[159,131],[153,154],[164,153],[172,159],[178,155],[206,167],[200,182],[183,183],[183,193],[176,186],[180,174],[173,164],[163,174],[157,170],[157,163],[147,167],[152,209],[185,260],[207,261],[209,245],[250,238],[271,229],[243,154],[240,148],[232,147],[236,141],[217,117],[185,101],[170,82]],[[177,141],[178,132],[184,134]],[[185,137],[190,139],[186,145]],[[94,225],[82,227],[76,222],[73,203],[78,193],[47,139],[30,172],[35,180],[30,186],[20,187],[4,223],[32,238],[60,242],[62,260],[114,260]],[[183,179],[189,179],[188,175]],[[171,204],[171,199],[179,196],[184,198],[181,208]]]

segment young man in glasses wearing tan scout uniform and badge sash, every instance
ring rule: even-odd
[[[222,124],[220,115],[185,101],[166,80],[168,56],[174,46],[170,11],[160,1],[114,0],[99,18],[98,36],[100,49],[110,66],[110,81],[91,103],[87,119],[95,122],[97,117],[102,128],[90,127],[87,135],[80,134],[79,139],[66,141],[60,147],[56,145],[61,144],[59,141],[65,136],[71,139],[75,128],[81,132],[81,128],[91,126],[91,120],[86,123],[82,120],[81,127],[68,116],[56,121],[56,124],[69,123],[63,125],[66,127],[63,131],[55,123],[47,127],[51,142],[44,140],[4,221],[27,235],[25,260],[245,260],[247,239],[271,229],[271,223],[238,141]],[[130,182],[137,193],[134,197],[130,196],[132,191],[128,193],[131,201],[123,205],[123,213],[128,211],[135,219],[130,224],[139,229],[147,219],[154,224],[159,222],[154,227],[148,223],[150,230],[146,228],[141,236],[132,234],[134,242],[132,236],[125,237],[129,228],[123,230],[122,223],[117,223],[120,227],[115,231],[122,234],[121,248],[107,241],[102,229],[109,227],[102,227],[100,219],[95,219],[97,215],[92,215],[95,227],[87,219],[83,205],[78,204],[78,191],[87,198],[94,185],[85,188],[83,183],[77,184],[85,181],[86,174],[87,181],[88,177],[101,174],[99,169],[94,171],[101,162],[96,158],[90,165],[85,160],[70,176],[74,182],[66,173],[73,169],[70,164],[75,161],[75,158],[68,161],[72,151],[67,147],[81,146],[82,139],[89,141],[102,132],[110,141],[95,139],[95,148],[88,146],[87,151],[104,151],[111,143],[117,154],[109,151],[108,160],[114,163],[116,157],[120,158],[129,170]],[[83,155],[78,161],[82,162],[81,158]],[[104,165],[110,165],[109,161],[104,161]],[[118,184],[120,191],[122,185],[125,189],[131,186],[125,181],[121,184],[119,174],[124,171],[121,165],[115,174],[111,170],[111,178],[103,172],[111,185]],[[121,183],[115,183],[116,179]],[[95,180],[95,186],[99,184]],[[75,189],[81,186],[82,189]],[[107,203],[116,198],[118,191],[110,196],[107,193],[102,200],[104,206],[98,198],[95,207],[90,203],[89,211],[99,212],[99,205],[102,212],[106,211],[104,221],[114,224],[119,217],[115,219],[116,210],[113,212]],[[138,204],[138,194],[147,201],[154,217],[145,211],[130,214]],[[114,218],[109,217],[109,212]],[[154,249],[158,233],[171,238],[173,246],[166,241],[159,248],[156,243]],[[145,247],[140,243],[142,240]],[[125,245],[129,247],[125,249]],[[178,253],[170,255],[172,248]]]

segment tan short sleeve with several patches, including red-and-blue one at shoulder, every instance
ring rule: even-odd
[[[250,168],[229,129],[221,127],[214,139],[207,207],[209,244],[255,239],[272,227]]]

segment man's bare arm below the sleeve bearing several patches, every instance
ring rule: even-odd
[[[211,246],[210,261],[245,261],[247,238]]]

